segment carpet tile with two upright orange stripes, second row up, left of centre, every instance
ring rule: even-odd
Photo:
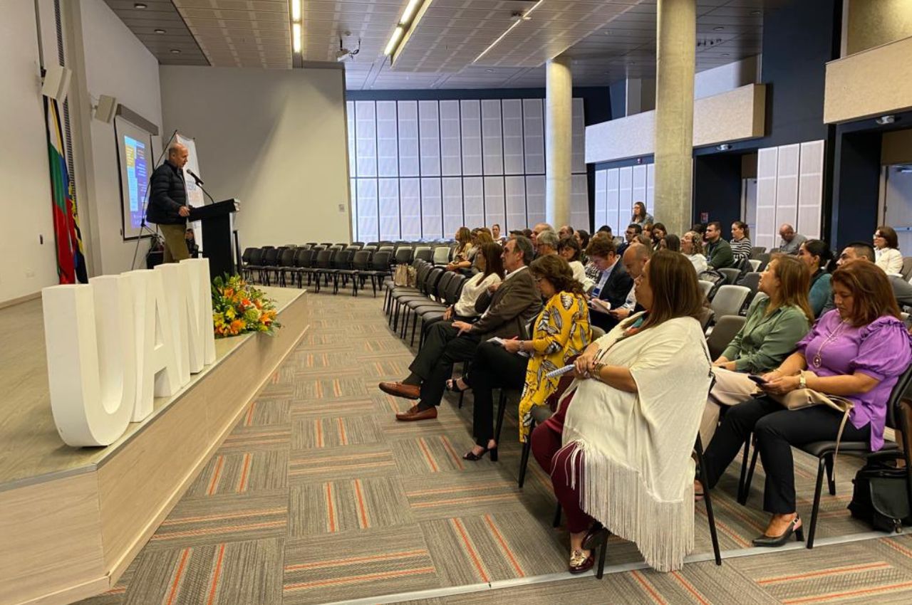
[[[389,528],[414,521],[398,478],[373,477],[305,483],[290,488],[288,534]]]

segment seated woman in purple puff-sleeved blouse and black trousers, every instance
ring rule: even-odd
[[[855,403],[842,438],[884,445],[886,403],[910,361],[909,334],[900,319],[886,274],[871,262],[853,261],[833,273],[836,308],[825,313],[793,354],[763,378],[763,390],[783,395],[810,388]],[[825,405],[787,410],[759,396],[732,407],[706,449],[710,487],[737,456],[753,432],[766,471],[763,509],[772,519],[754,546],[782,546],[796,534],[803,538],[795,508],[792,446],[834,441],[842,415]]]

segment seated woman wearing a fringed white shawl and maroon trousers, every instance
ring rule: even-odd
[[[566,514],[571,573],[592,568],[605,528],[660,571],[693,548],[690,454],[711,375],[703,297],[693,266],[671,251],[653,255],[635,288],[647,311],[586,348],[558,411],[532,436]]]

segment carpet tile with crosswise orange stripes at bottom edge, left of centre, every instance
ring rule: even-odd
[[[370,529],[285,543],[283,603],[324,603],[439,588],[419,528]]]

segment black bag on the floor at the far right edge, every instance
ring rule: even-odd
[[[904,525],[912,525],[907,469],[889,464],[901,457],[897,452],[868,456],[852,480],[855,489],[848,509],[853,517],[881,531],[900,533]]]

